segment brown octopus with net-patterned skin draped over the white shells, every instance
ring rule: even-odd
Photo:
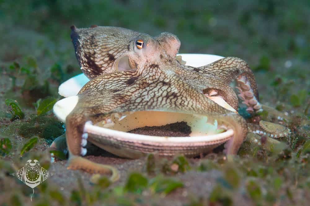
[[[196,68],[177,61],[180,41],[168,32],[152,37],[118,27],[78,29],[73,26],[71,29],[79,64],[91,81],[80,90],[78,104],[66,118],[69,168],[111,172],[111,167],[78,157],[81,137],[87,121],[95,124],[109,114],[126,111],[158,110],[212,116],[234,130],[226,153],[237,153],[248,131],[246,121],[208,96],[220,96],[237,110],[237,95],[229,83],[240,80],[241,98],[247,101],[249,111],[261,110],[255,77],[245,61],[226,57]],[[137,40],[143,41],[141,48]],[[130,68],[117,66],[125,56]]]

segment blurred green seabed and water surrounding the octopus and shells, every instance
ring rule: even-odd
[[[179,37],[179,53],[240,57],[254,71],[261,103],[290,116],[292,135],[272,148],[246,141],[234,160],[92,156],[122,178],[91,185],[90,174],[66,170],[64,153],[51,164],[46,152],[64,133],[51,112],[58,86],[81,73],[71,25],[167,31]],[[308,205],[309,27],[307,0],[0,0],[0,205]],[[34,158],[55,175],[31,202],[32,190],[9,174]]]

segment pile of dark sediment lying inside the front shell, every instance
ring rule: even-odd
[[[188,137],[192,132],[191,127],[186,122],[175,122],[172,124],[166,124],[162,126],[145,126],[135,128],[129,133],[160,136],[160,137]]]

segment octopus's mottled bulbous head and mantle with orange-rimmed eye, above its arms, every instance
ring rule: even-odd
[[[76,57],[89,79],[175,59],[181,45],[178,37],[169,32],[152,37],[118,27],[71,29]]]

